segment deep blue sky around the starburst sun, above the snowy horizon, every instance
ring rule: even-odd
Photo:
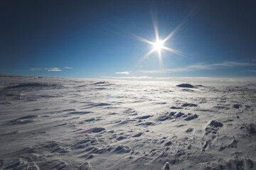
[[[255,77],[255,1],[0,1],[0,73]],[[144,56],[170,33],[161,49]],[[175,30],[175,31],[174,31]],[[174,32],[173,32],[174,31]],[[144,58],[144,60],[142,60]]]

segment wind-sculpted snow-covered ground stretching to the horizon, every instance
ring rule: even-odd
[[[256,169],[256,86],[0,77],[0,169]]]

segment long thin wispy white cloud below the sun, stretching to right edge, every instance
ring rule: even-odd
[[[137,72],[142,73],[169,73],[169,72],[189,72],[196,70],[206,70],[206,69],[221,69],[221,68],[233,68],[233,67],[247,67],[255,66],[256,64],[250,62],[222,62],[222,63],[197,63],[188,65],[186,67],[179,67],[174,69],[159,69],[159,70],[139,70]]]

